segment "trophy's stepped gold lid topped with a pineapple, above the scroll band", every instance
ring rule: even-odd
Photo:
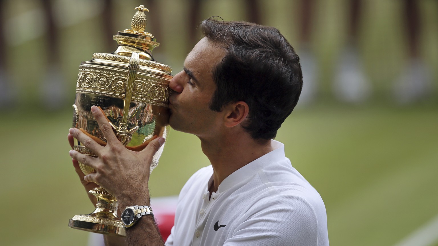
[[[146,14],[149,10],[143,5],[135,7],[138,10],[134,14],[131,21],[131,29],[118,31],[117,35],[113,35],[113,39],[117,41],[117,49],[113,53],[94,53],[93,62],[112,63],[122,62],[129,63],[129,59],[133,52],[139,54],[140,66],[145,66],[143,69],[154,69],[166,75],[171,75],[172,68],[168,65],[156,62],[152,56],[152,49],[160,44],[156,42],[156,38],[151,33],[146,32]],[[120,63],[119,63],[120,64]]]

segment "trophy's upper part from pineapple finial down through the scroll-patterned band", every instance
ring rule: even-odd
[[[99,95],[99,100],[104,101],[122,99],[124,123],[127,123],[131,101],[167,107],[172,79],[172,68],[152,57],[152,49],[159,43],[145,31],[148,9],[143,5],[135,9],[138,11],[132,18],[131,29],[113,36],[117,49],[113,53],[94,53],[91,61],[81,62],[76,81],[79,97],[97,100],[96,95]],[[90,103],[106,107],[97,101]]]

